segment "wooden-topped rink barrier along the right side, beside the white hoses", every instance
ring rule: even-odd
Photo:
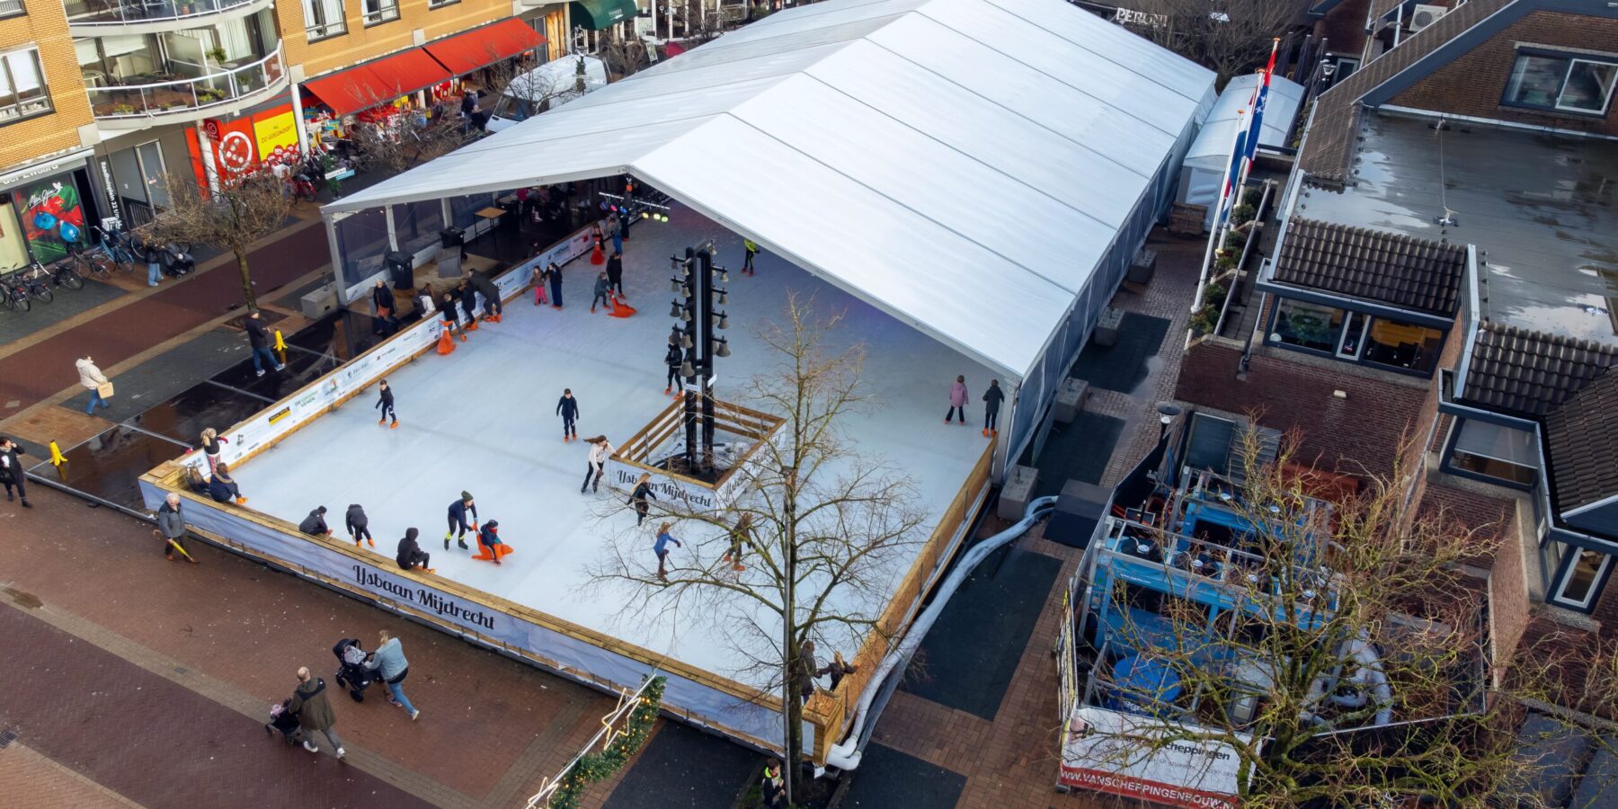
[[[950,561],[964,545],[977,510],[989,500],[995,443],[998,440],[984,448],[984,455],[977,458],[966,484],[955,493],[955,500],[938,518],[938,524],[932,529],[921,553],[916,555],[916,561],[911,563],[904,579],[893,591],[888,607],[877,618],[875,629],[866,636],[866,642],[849,660],[856,671],[843,676],[835,691],[815,689],[814,697],[804,705],[804,722],[817,730],[812,752],[815,762],[825,762],[832,746],[843,739],[848,723],[854,718],[854,705],[866,691],[872,673],[877,671],[882,659],[898,646],[904,628],[921,613],[922,600],[943,578]]]

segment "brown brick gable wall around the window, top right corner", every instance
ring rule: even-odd
[[[1524,110],[1500,104],[1519,45],[1618,55],[1618,19],[1534,11],[1487,42],[1438,68],[1388,104],[1560,129],[1618,134],[1618,113],[1605,118]]]

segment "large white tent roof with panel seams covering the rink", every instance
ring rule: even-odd
[[[1061,0],[827,0],[325,210],[629,172],[1021,379],[1212,100]]]

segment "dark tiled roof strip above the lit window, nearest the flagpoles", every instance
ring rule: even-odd
[[[1438,316],[1459,309],[1464,278],[1464,248],[1299,218],[1275,262],[1281,283]]]

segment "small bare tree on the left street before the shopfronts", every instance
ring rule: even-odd
[[[241,272],[241,298],[249,309],[257,309],[248,251],[286,227],[294,204],[286,183],[264,163],[254,163],[220,176],[218,188],[199,184],[189,173],[178,172],[163,176],[163,188],[168,189],[168,207],[142,228],[147,236],[228,251]]]

